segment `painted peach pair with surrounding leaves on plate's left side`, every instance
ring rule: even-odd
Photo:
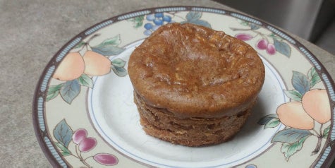
[[[111,69],[117,76],[127,75],[126,68],[124,68],[126,61],[109,59],[124,50],[118,47],[118,44],[121,43],[120,35],[104,40],[97,46],[90,46],[90,41],[97,36],[99,34],[92,35],[86,42],[80,42],[74,47],[76,52],[66,54],[52,76],[66,82],[49,86],[47,101],[61,95],[65,102],[71,104],[80,93],[80,85],[92,88],[94,85],[92,76],[104,76]],[[83,56],[81,53],[84,53]]]

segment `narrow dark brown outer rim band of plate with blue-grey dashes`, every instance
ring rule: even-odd
[[[76,40],[80,42],[80,40],[85,39],[85,37],[91,35],[93,32],[96,32],[97,30],[100,30],[101,28],[104,28],[107,25],[111,25],[114,23],[118,23],[118,21],[122,21],[122,20],[126,20],[128,18],[134,18],[135,16],[144,16],[150,13],[157,13],[157,12],[165,12],[165,11],[157,11],[157,10],[164,10],[166,9],[167,11],[177,11],[177,10],[171,10],[171,9],[176,9],[176,8],[181,8],[181,10],[178,11],[203,11],[203,12],[208,12],[208,13],[215,13],[218,15],[227,15],[227,16],[232,16],[232,13],[236,13],[239,16],[243,16],[244,18],[239,18],[242,20],[245,20],[245,18],[249,18],[252,20],[255,20],[257,22],[260,22],[262,24],[262,27],[267,28],[269,30],[268,27],[270,28],[274,28],[274,30],[278,31],[275,32],[276,34],[281,34],[285,35],[286,37],[288,37],[288,39],[293,40],[293,42],[295,44],[293,44],[292,42],[290,42],[293,46],[297,47],[298,49],[300,49],[300,52],[303,52],[301,49],[304,49],[305,52],[307,52],[307,54],[310,54],[310,56],[315,59],[314,61],[318,64],[318,66],[320,67],[319,70],[317,70],[317,73],[319,74],[320,77],[322,77],[322,73],[326,76],[326,78],[328,79],[329,85],[327,85],[327,83],[325,83],[324,78],[322,78],[322,83],[326,86],[326,90],[327,90],[327,94],[329,95],[329,88],[335,88],[335,84],[334,84],[334,79],[331,78],[331,76],[329,75],[329,72],[327,71],[327,69],[324,67],[324,65],[319,61],[319,59],[317,59],[317,56],[315,56],[315,54],[313,54],[312,52],[310,52],[309,49],[307,49],[307,47],[305,47],[305,45],[303,45],[302,43],[300,43],[298,40],[296,40],[295,38],[293,38],[291,35],[288,35],[286,32],[284,32],[284,30],[281,30],[281,28],[278,28],[275,25],[272,25],[271,23],[267,23],[259,18],[255,18],[253,16],[248,16],[247,14],[243,13],[243,12],[236,12],[236,11],[231,11],[229,9],[223,9],[223,8],[212,8],[212,7],[206,7],[206,6],[159,6],[159,7],[152,7],[152,8],[142,8],[139,10],[135,10],[135,11],[129,11],[126,13],[121,13],[118,14],[117,16],[113,16],[111,18],[107,18],[105,20],[102,20],[98,23],[95,23],[94,25],[90,26],[89,28],[86,28],[85,30],[81,31],[80,33],[78,33],[77,35],[73,36],[70,40],[68,40],[68,42],[66,42],[66,44],[63,44],[63,46],[56,52],[56,54],[54,54],[51,59],[49,60],[49,62],[47,63],[46,66],[44,66],[44,70],[42,71],[42,73],[39,75],[39,80],[37,80],[37,85],[35,87],[35,92],[34,92],[34,96],[33,96],[33,100],[32,100],[32,124],[34,127],[34,131],[35,131],[35,136],[37,138],[37,141],[39,143],[40,148],[42,148],[42,152],[44,153],[45,157],[47,157],[47,160],[49,161],[49,163],[51,164],[52,167],[59,167],[62,166],[60,164],[60,162],[57,160],[57,158],[54,156],[54,154],[50,151],[49,149],[49,145],[45,142],[44,138],[49,138],[48,134],[49,131],[47,131],[47,129],[43,132],[40,128],[40,124],[39,124],[39,116],[38,116],[38,99],[39,97],[46,97],[46,90],[47,90],[47,86],[45,87],[45,90],[42,91],[41,88],[43,86],[43,81],[44,78],[47,76],[47,73],[49,71],[49,68],[51,66],[58,66],[59,63],[61,62],[61,60],[56,61],[57,57],[62,54],[64,52],[65,49],[68,49],[68,51],[70,51],[71,49],[73,49],[73,47],[75,45],[71,44],[73,42],[75,42]],[[195,8],[197,10],[195,10]],[[169,10],[170,9],[170,10]],[[142,13],[141,15],[130,15],[130,14],[134,14],[134,13],[141,13],[141,12],[145,12],[145,11],[149,11],[149,13]],[[224,13],[218,13],[218,11],[222,11]],[[121,18],[123,16],[123,18]],[[234,18],[237,18],[236,16],[233,16]],[[247,20],[250,21],[250,20]],[[109,23],[108,23],[109,22]],[[104,25],[105,23],[105,25]],[[100,28],[97,28],[100,25]],[[271,30],[272,32],[274,32],[274,30]],[[90,32],[89,34],[87,34],[87,32]],[[285,38],[285,40],[287,40],[289,42],[287,38]],[[70,47],[71,46],[71,47]],[[68,53],[65,52],[65,53]],[[310,62],[310,64],[315,65],[315,63],[310,60],[308,58],[306,53],[303,52],[303,55],[305,56],[305,59],[307,59],[307,61]],[[61,58],[63,59],[63,57]],[[48,80],[47,85],[49,84],[50,79]],[[329,96],[329,102],[333,102],[333,104],[331,104],[331,110],[332,114],[331,114],[331,130],[329,131],[327,140],[325,142],[325,144],[329,143],[329,141],[331,141],[331,132],[333,131],[333,127],[334,127],[334,101],[331,100],[332,97]],[[45,101],[43,100],[43,102],[45,103]],[[43,113],[42,115],[44,116],[44,110],[43,109]],[[45,122],[44,118],[43,121]],[[51,142],[50,142],[51,143]],[[55,148],[52,144],[50,144],[53,148]],[[323,148],[322,151],[320,152],[320,156],[322,157],[322,153],[324,154],[324,150],[326,148]],[[56,154],[59,155],[59,152],[56,151]],[[331,163],[334,161],[335,158],[335,149],[331,148],[331,150],[329,151],[329,154],[327,155],[327,157],[325,159],[323,159],[324,161],[322,162],[322,164],[320,165],[320,167],[330,167]],[[322,158],[318,159],[319,161],[322,160]],[[67,160],[63,160],[64,164],[66,164],[66,166],[69,166],[70,164],[67,162]]]

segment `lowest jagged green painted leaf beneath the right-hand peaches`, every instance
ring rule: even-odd
[[[303,148],[303,143],[307,138],[308,136],[305,136],[294,143],[283,143],[283,145],[281,145],[281,152],[284,154],[286,161],[288,161],[292,155]]]

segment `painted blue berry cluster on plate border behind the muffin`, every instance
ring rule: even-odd
[[[171,16],[164,16],[164,13],[150,14],[147,15],[145,19],[150,21],[150,23],[145,23],[144,25],[145,31],[143,33],[145,35],[151,35],[154,30],[157,30],[161,25],[164,25],[164,23],[173,22]]]

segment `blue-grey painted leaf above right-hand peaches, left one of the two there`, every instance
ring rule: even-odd
[[[310,90],[310,81],[308,81],[303,73],[298,71],[293,71],[292,85],[301,95],[304,95],[305,92]]]

